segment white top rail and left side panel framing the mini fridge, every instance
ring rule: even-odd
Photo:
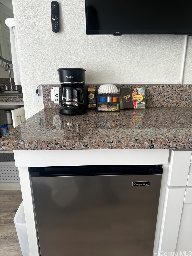
[[[38,256],[38,238],[35,228],[33,201],[28,167],[34,166],[74,166],[110,165],[112,155],[114,165],[168,164],[167,149],[102,149],[102,150],[18,150],[14,151],[15,163],[19,168],[21,192],[31,256]],[[55,161],[57,159],[57,161]],[[98,160],[99,159],[99,160]],[[166,180],[167,181],[167,180]],[[120,256],[120,255],[117,255]],[[139,255],[141,256],[141,255]],[[149,255],[152,256],[152,255]]]

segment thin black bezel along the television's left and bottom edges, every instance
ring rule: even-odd
[[[192,28],[191,31],[189,29],[186,30],[172,30],[170,32],[170,29],[168,30],[89,30],[88,29],[88,14],[87,14],[87,7],[88,7],[88,1],[91,0],[85,0],[85,16],[86,16],[86,34],[87,35],[114,35],[114,36],[121,36],[121,35],[192,35]]]

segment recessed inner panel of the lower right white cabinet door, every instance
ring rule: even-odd
[[[192,203],[183,205],[175,252],[176,255],[192,255]]]

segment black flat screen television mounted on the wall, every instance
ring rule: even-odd
[[[85,0],[87,35],[192,35],[191,0]]]

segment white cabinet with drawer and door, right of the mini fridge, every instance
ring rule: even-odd
[[[192,255],[191,153],[171,151],[158,256]]]

